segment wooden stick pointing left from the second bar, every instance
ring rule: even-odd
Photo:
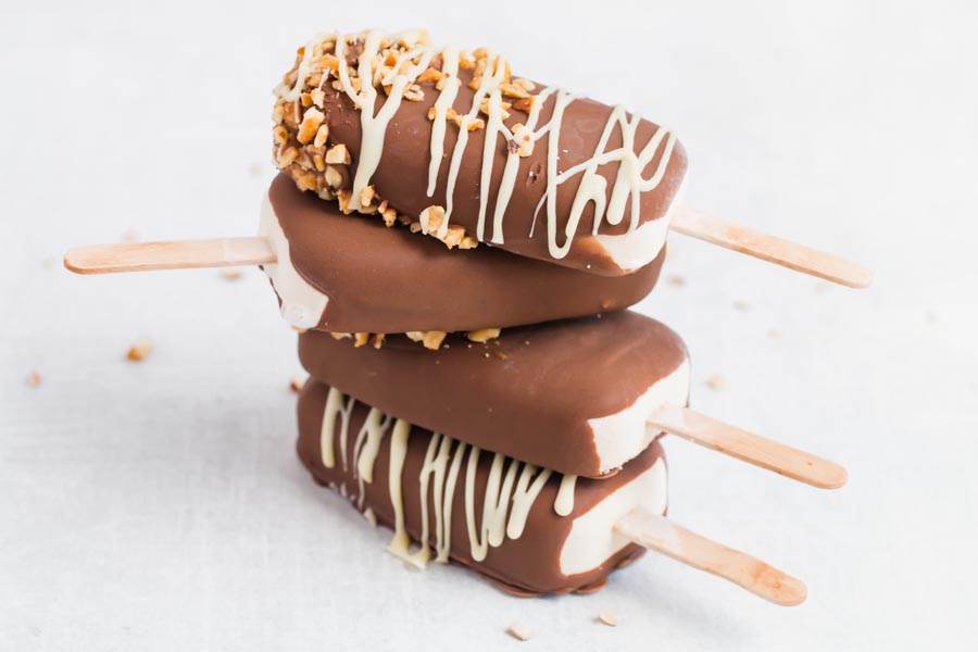
[[[234,267],[274,263],[266,238],[214,238],[78,247],[64,254],[64,266],[77,274]]]

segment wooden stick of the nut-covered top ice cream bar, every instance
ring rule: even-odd
[[[873,274],[851,261],[755,231],[687,205],[677,205],[669,228],[738,253],[848,286],[865,288]]]

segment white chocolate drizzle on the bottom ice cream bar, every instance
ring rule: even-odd
[[[394,419],[376,408],[371,408],[356,435],[348,468],[344,442],[349,439],[350,417],[354,406],[353,398],[329,388],[321,427],[319,441],[323,447],[323,464],[327,468],[335,467],[335,449],[340,449],[342,468],[355,479],[356,493],[354,494],[346,482],[340,482],[339,487],[330,484],[330,487],[355,503],[367,521],[376,523],[373,510],[369,506],[364,509],[364,482],[374,481],[374,463],[380,443],[385,436],[390,435],[390,464],[387,482],[394,521],[394,534],[388,546],[391,554],[418,568],[427,565],[432,553],[437,562],[449,561],[455,492],[462,475],[463,461],[466,463],[463,489],[464,516],[473,560],[482,561],[490,548],[501,546],[506,538],[515,540],[523,536],[530,510],[553,472],[505,455],[494,454],[486,480],[481,517],[477,525],[476,488],[482,451],[447,435],[435,432],[428,442],[418,474],[417,491],[421,499],[422,531],[419,544],[416,550],[412,551],[411,537],[405,524],[403,497],[404,462],[408,456],[408,442],[412,426],[403,419]],[[337,432],[337,428],[339,432]],[[577,476],[564,476],[561,480],[553,505],[554,511],[561,516],[566,516],[573,511],[576,478]],[[431,506],[434,506],[434,514],[429,514]],[[429,547],[432,516],[434,549]]]

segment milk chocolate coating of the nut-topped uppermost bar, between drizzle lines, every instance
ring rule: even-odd
[[[461,114],[468,113],[475,90],[469,88],[473,71],[462,70],[459,78],[462,86],[453,102],[453,108]],[[421,101],[402,101],[390,123],[384,138],[383,156],[379,166],[372,177],[377,197],[387,200],[399,213],[404,213],[413,220],[417,220],[421,213],[430,205],[447,206],[447,191],[449,167],[453,148],[457,140],[459,129],[450,124],[446,129],[444,149],[446,155],[440,166],[437,187],[432,196],[427,195],[428,164],[430,161],[430,139],[432,121],[428,118],[428,111],[435,104],[439,91],[434,82],[419,84],[424,91]],[[537,85],[535,95],[546,87]],[[349,174],[344,176],[349,187],[349,179],[355,174],[361,153],[363,128],[360,111],[354,106],[350,98],[335,90],[331,85],[325,85],[326,93],[324,111],[329,127],[329,145],[346,145],[351,154],[352,163]],[[375,113],[380,111],[387,96],[378,93]],[[553,115],[555,97],[548,98],[542,109],[538,126],[547,124]],[[579,163],[586,162],[598,151],[598,145],[607,124],[613,108],[586,98],[577,99],[566,108],[560,129],[560,160],[557,171],[566,171]],[[515,108],[504,122],[506,126],[514,127],[517,123],[527,121],[527,113]],[[659,130],[659,126],[642,120],[638,125],[635,137],[635,150],[641,151],[649,140]],[[481,185],[482,150],[486,141],[487,129],[476,129],[468,133],[468,142],[462,154],[457,180],[453,193],[453,212],[451,223],[461,225],[472,237],[477,237],[477,224],[479,214],[479,188]],[[512,198],[506,206],[502,226],[503,242],[499,248],[519,255],[544,260],[559,265],[587,269],[591,274],[620,275],[627,273],[604,252],[591,236],[594,223],[594,206],[589,203],[581,215],[576,229],[576,236],[567,255],[562,259],[551,256],[548,248],[548,225],[546,210],[540,210],[537,215],[537,206],[544,196],[548,179],[548,147],[551,135],[543,135],[537,140],[530,155],[519,160],[516,174],[516,183]],[[623,145],[622,130],[615,126],[611,137],[602,151],[612,151]],[[663,148],[642,171],[644,177],[650,177],[656,168],[663,154]],[[503,168],[506,162],[506,142],[499,138],[494,146],[491,184],[487,206],[485,233],[481,240],[490,241],[496,235],[492,227],[492,215],[496,208],[497,189],[500,186]],[[612,188],[618,174],[619,163],[611,162],[600,165],[598,173],[606,181],[605,196],[611,200]],[[686,175],[687,155],[680,143],[676,143],[669,162],[666,166],[662,181],[653,190],[642,192],[640,196],[640,224],[662,218],[673,200],[675,199],[682,179]],[[301,171],[296,168],[296,173]],[[556,189],[556,241],[564,243],[566,225],[570,214],[570,208],[575,201],[580,186],[580,175],[561,184]],[[631,209],[626,206],[624,218],[617,225],[602,221],[599,234],[620,235],[625,234],[630,225]],[[536,221],[536,225],[534,224]]]

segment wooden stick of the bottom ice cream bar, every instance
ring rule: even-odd
[[[723,577],[775,604],[801,604],[808,592],[800,579],[641,507],[620,518],[614,530],[639,546]]]

